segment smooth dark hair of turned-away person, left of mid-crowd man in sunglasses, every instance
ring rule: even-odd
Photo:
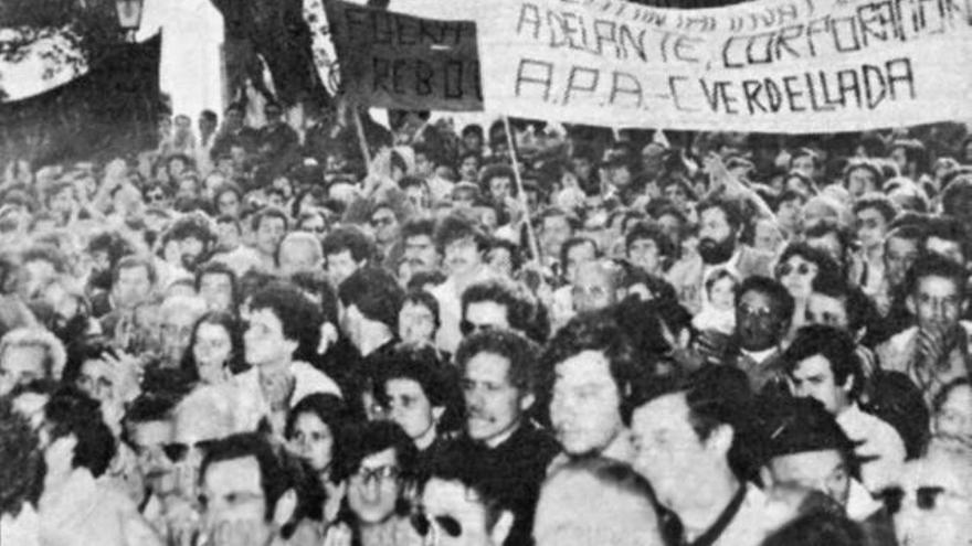
[[[391,274],[377,267],[362,267],[338,288],[345,308],[355,306],[368,320],[397,330],[404,291]]]

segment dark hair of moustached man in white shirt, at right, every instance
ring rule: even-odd
[[[810,324],[796,331],[793,343],[783,352],[781,361],[788,374],[811,356],[822,356],[831,365],[834,383],[844,385],[852,379],[849,397],[856,399],[864,388],[864,371],[850,334],[834,326]]]

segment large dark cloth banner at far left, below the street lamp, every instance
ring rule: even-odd
[[[47,164],[155,148],[161,44],[160,34],[118,44],[66,84],[0,103],[0,159]]]

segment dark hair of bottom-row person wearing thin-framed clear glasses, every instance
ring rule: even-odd
[[[397,422],[378,420],[357,422],[347,428],[336,481],[350,478],[361,468],[361,461],[385,449],[394,450],[400,475],[406,480],[415,477],[419,463],[415,443]]]

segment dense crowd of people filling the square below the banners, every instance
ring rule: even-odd
[[[972,138],[166,117],[0,188],[0,544],[972,545]]]

